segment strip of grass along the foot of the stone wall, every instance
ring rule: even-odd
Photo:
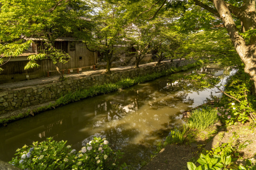
[[[133,85],[136,85],[136,84],[139,84],[142,82],[152,81],[159,77],[170,75],[170,74],[176,73],[176,72],[187,71],[190,68],[199,67],[202,65],[203,65],[203,61],[198,60],[197,62],[194,62],[192,64],[187,64],[186,66],[183,66],[183,67],[172,67],[169,70],[166,70],[165,72],[155,72],[153,74],[148,74],[146,76],[139,76],[139,77],[135,77],[135,78],[125,78],[116,83],[107,83],[107,84],[103,84],[103,85],[96,85],[96,86],[93,86],[88,89],[79,89],[75,92],[70,92],[68,94],[64,94],[62,97],[57,99],[55,103],[50,103],[47,106],[39,107],[39,108],[33,109],[33,110],[29,109],[29,110],[27,110],[26,113],[20,113],[18,116],[12,116],[11,118],[0,119],[0,125],[7,124],[12,121],[21,119],[21,118],[32,116],[32,114],[35,115],[38,113],[42,113],[46,110],[54,109],[54,108],[57,108],[59,106],[62,106],[62,105],[68,104],[68,103],[80,101],[82,99],[91,98],[91,97],[101,95],[101,94],[115,92],[118,90],[122,90],[123,88],[128,88],[128,87],[131,87]]]

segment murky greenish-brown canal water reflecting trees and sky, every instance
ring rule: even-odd
[[[215,76],[223,75],[224,71],[218,70],[208,69]],[[154,144],[166,137],[168,129],[184,123],[182,111],[202,104],[211,92],[214,95],[217,91],[175,79],[190,72],[88,98],[0,127],[0,159],[9,161],[17,148],[48,137],[67,140],[78,150],[97,136],[107,138],[112,149],[125,153],[123,161],[132,169],[139,169],[142,161],[150,159],[156,149]],[[220,83],[224,82],[225,79]]]

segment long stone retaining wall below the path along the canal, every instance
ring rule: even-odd
[[[165,62],[160,66],[144,66],[137,69],[129,69],[118,72],[113,72],[111,75],[92,75],[67,80],[64,82],[50,83],[46,85],[38,85],[32,87],[9,89],[0,92],[0,114],[8,111],[24,108],[31,105],[37,105],[56,100],[69,92],[73,92],[81,88],[90,88],[97,84],[109,82],[117,82],[122,78],[133,78],[144,76],[154,72],[162,72],[171,67],[185,66],[189,63],[194,63],[194,60],[181,60],[175,62]]]

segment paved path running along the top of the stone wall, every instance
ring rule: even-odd
[[[168,61],[163,61],[163,62],[170,62]],[[156,62],[150,62],[147,64],[142,64],[139,65],[139,67],[146,67],[149,65],[155,65]],[[121,66],[121,67],[116,67],[116,68],[111,68],[111,71],[121,71],[121,70],[129,70],[133,69],[134,66]],[[85,77],[85,76],[91,76],[91,75],[96,75],[96,74],[104,74],[106,69],[97,69],[97,70],[88,70],[80,73],[72,73],[72,74],[65,74],[65,77],[71,77],[71,78],[79,78],[79,77]],[[51,76],[51,77],[42,77],[42,78],[36,78],[32,80],[25,80],[25,81],[20,81],[20,82],[8,82],[4,84],[0,84],[0,89],[14,89],[14,88],[22,88],[22,87],[28,87],[28,86],[36,86],[36,85],[43,85],[43,84],[48,84],[52,83],[53,81],[57,81],[59,79],[59,76]]]

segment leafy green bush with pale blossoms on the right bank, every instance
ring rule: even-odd
[[[240,68],[232,77],[229,77],[225,85],[225,93],[238,99],[229,98],[223,94],[221,103],[222,108],[218,108],[219,117],[227,124],[235,122],[245,123],[250,118],[250,114],[256,112],[256,96],[254,92],[254,82],[246,74],[243,68]]]

